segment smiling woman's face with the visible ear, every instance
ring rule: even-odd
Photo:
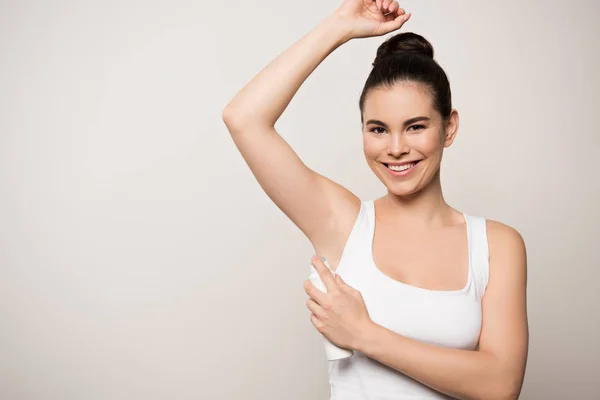
[[[371,89],[363,121],[367,163],[388,191],[400,196],[416,193],[431,182],[444,148],[452,144],[458,130],[458,113],[452,110],[444,123],[433,108],[430,91],[414,82]]]

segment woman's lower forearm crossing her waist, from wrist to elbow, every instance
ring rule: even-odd
[[[430,345],[372,323],[357,350],[458,399],[514,399],[515,387],[491,354]]]

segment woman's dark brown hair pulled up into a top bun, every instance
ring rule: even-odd
[[[433,46],[421,35],[403,32],[391,36],[377,49],[373,69],[360,95],[361,122],[369,90],[391,88],[397,82],[423,84],[431,93],[435,110],[444,120],[450,117],[450,83],[442,67],[433,59]]]

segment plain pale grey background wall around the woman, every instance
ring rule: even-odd
[[[221,112],[341,1],[0,2],[0,398],[327,399],[313,249]],[[517,228],[523,399],[600,397],[597,1],[406,1],[461,117],[451,205]],[[277,123],[363,199],[353,40]]]

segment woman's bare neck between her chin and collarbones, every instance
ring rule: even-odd
[[[417,193],[399,196],[388,191],[381,203],[388,218],[404,226],[439,227],[451,224],[454,217],[452,207],[442,194],[439,170],[431,182]]]

